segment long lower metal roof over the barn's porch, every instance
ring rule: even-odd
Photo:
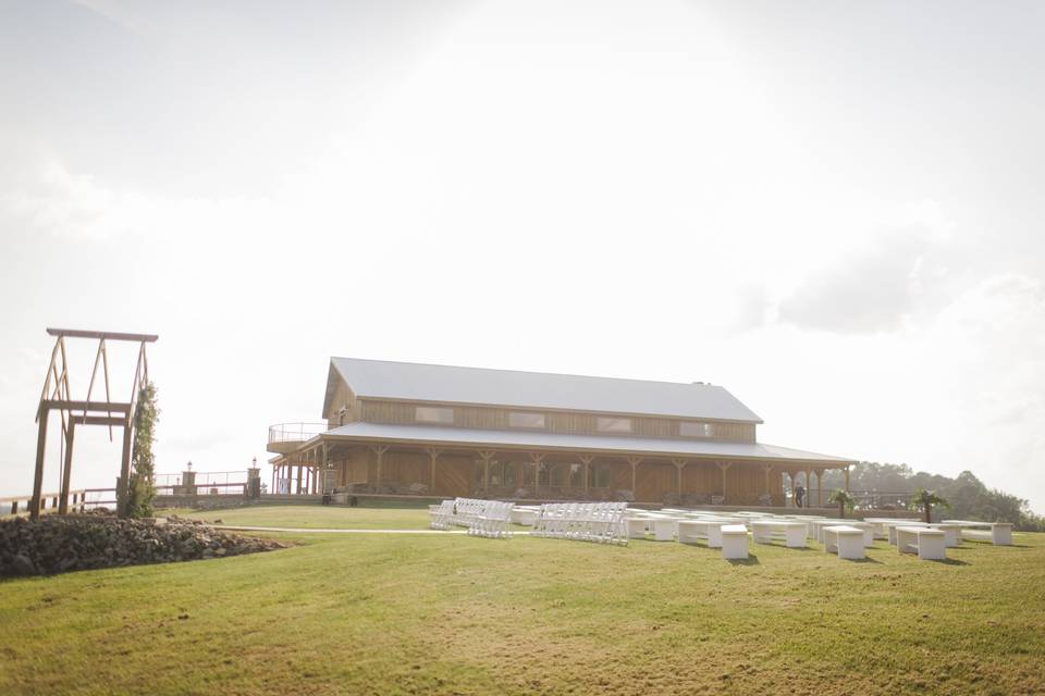
[[[755,459],[795,464],[846,467],[853,459],[809,452],[762,443],[720,443],[663,437],[632,437],[623,435],[574,435],[537,431],[497,431],[433,425],[392,425],[355,422],[342,425],[314,438],[345,440],[378,440],[441,445],[445,447],[477,447],[484,449],[541,449],[607,455],[650,455],[657,457],[701,459]]]

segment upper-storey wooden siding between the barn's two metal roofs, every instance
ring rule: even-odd
[[[416,409],[418,403],[409,401],[383,401],[378,399],[357,399],[358,420],[367,423],[388,423],[388,424],[415,424]],[[533,428],[541,432],[566,433],[566,434],[597,434],[600,433],[597,427],[598,414],[595,413],[573,413],[566,411],[534,411],[532,409],[503,409],[478,406],[455,406],[452,403],[428,403],[425,406],[447,407],[454,410],[453,426],[444,427],[469,427],[469,428],[491,428],[491,430],[519,430],[524,432],[527,428],[513,428],[508,425],[508,413],[531,412],[544,413],[543,428]],[[697,421],[686,419],[687,422],[712,424],[711,437],[689,437],[679,435],[679,422],[683,419],[630,417],[631,436],[637,437],[669,437],[688,440],[708,439],[712,442],[727,443],[753,443],[755,439],[754,423],[720,423],[712,421]],[[627,434],[613,435],[614,437],[627,438]]]

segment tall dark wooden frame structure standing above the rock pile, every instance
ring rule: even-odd
[[[48,328],[48,335],[54,336],[54,348],[51,350],[51,362],[47,368],[44,380],[44,390],[36,410],[36,422],[39,431],[36,440],[36,472],[33,477],[33,501],[29,514],[35,520],[40,514],[40,497],[44,488],[44,461],[47,450],[47,427],[51,411],[58,411],[62,423],[62,469],[60,478],[59,512],[69,510],[70,478],[72,477],[73,444],[76,427],[79,425],[104,425],[109,427],[109,439],[113,438],[113,428],[123,428],[123,450],[120,460],[120,480],[116,486],[116,507],[121,514],[126,513],[128,485],[131,480],[131,444],[134,436],[134,411],[137,406],[138,393],[149,382],[149,361],[146,356],[146,344],[159,338],[149,334],[122,334],[99,331],[78,331],[71,328]],[[94,369],[90,382],[83,400],[72,397],[70,387],[69,360],[65,352],[65,340],[69,338],[86,338],[98,341],[95,353]],[[109,352],[108,341],[130,341],[138,344],[138,358],[131,385],[131,398],[126,401],[113,401],[109,389]],[[104,400],[91,399],[95,382],[98,378],[98,369],[101,368],[106,388]]]

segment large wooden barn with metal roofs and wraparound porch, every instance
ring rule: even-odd
[[[856,463],[759,443],[729,391],[332,358],[325,423],[269,431],[273,492],[784,506]],[[848,476],[847,476],[848,478]]]

